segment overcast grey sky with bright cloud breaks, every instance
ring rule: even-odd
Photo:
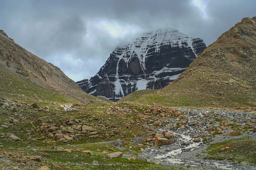
[[[0,29],[69,78],[91,78],[120,43],[175,28],[208,46],[256,0],[0,0]]]

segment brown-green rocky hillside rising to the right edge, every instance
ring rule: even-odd
[[[136,101],[166,106],[256,106],[256,17],[223,33],[170,85]],[[123,100],[125,101],[125,100]]]

